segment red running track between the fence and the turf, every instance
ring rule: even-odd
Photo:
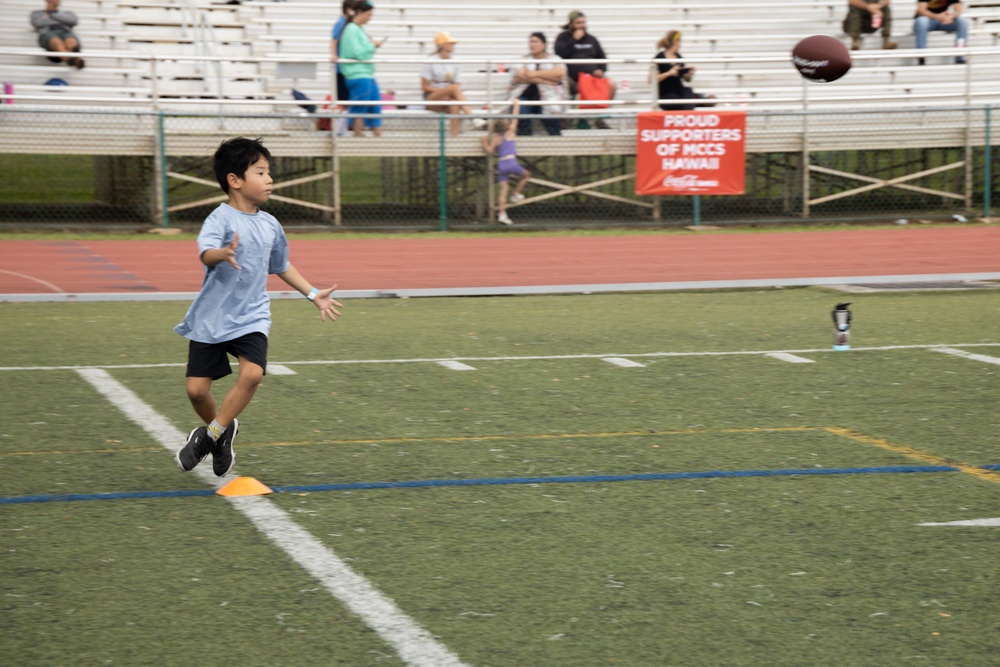
[[[1000,271],[1000,227],[843,231],[379,238],[290,237],[292,263],[339,290],[984,276]],[[0,241],[0,294],[197,292],[191,240]],[[269,289],[288,290],[276,277]],[[683,285],[679,285],[683,286]]]

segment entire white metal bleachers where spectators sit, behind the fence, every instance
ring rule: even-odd
[[[284,110],[287,107],[268,103],[289,99],[292,87],[317,100],[330,89],[330,29],[340,7],[336,1],[244,0],[241,5],[227,5],[209,0],[64,0],[63,7],[80,16],[76,31],[84,57],[116,56],[89,58],[79,71],[50,63],[37,48],[28,14],[40,4],[40,0],[0,3],[0,46],[22,49],[0,56],[0,74],[17,93],[32,93],[32,98],[39,97],[34,94],[38,87],[54,77],[65,79],[74,92],[85,96],[130,101],[155,96],[164,108],[181,109],[200,108],[184,106],[185,100],[221,98],[260,103],[241,111]],[[811,105],[821,106],[1000,102],[1000,86],[995,84],[1000,52],[973,57],[969,68],[947,64],[954,51],[946,48],[952,37],[944,33],[931,34],[926,67],[915,66],[913,50],[874,50],[881,40],[868,36],[866,49],[857,54],[847,77],[833,86],[806,90],[787,54],[805,35],[846,40],[841,32],[845,4],[845,0],[760,0],[750,3],[751,14],[747,3],[733,0],[630,0],[624,7],[605,0],[380,0],[367,29],[373,37],[389,37],[378,54],[380,86],[410,105],[420,102],[419,63],[432,51],[439,30],[460,40],[455,56],[467,61],[463,79],[469,97],[489,98],[499,110],[509,74],[497,69],[507,65],[509,70],[510,61],[524,56],[533,31],[545,32],[551,48],[572,9],[586,13],[591,32],[610,57],[627,61],[609,66],[619,83],[613,110],[650,108],[655,91],[648,79],[649,59],[668,29],[682,31],[684,58],[697,66],[693,85],[699,92],[751,108],[800,108],[807,93]],[[186,5],[211,25],[210,48],[202,43],[204,34],[192,25]],[[893,38],[905,47],[912,46],[912,20],[904,5],[893,5]],[[965,5],[973,22],[969,46],[996,46],[1000,0],[966,0]],[[229,60],[219,63],[207,56]],[[203,59],[192,60],[199,57]],[[279,78],[278,59],[314,63],[315,75]],[[485,59],[492,62],[487,65]],[[49,98],[66,99],[67,92]]]

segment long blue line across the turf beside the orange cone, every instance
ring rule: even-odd
[[[983,466],[998,469],[1000,465]],[[636,475],[567,475],[559,477],[486,477],[478,479],[423,479],[408,482],[345,482],[270,487],[275,493],[311,493],[315,491],[359,491],[366,489],[414,489],[442,486],[508,486],[512,484],[579,484],[595,482],[646,482],[672,479],[712,479],[731,477],[792,477],[797,475],[866,475],[898,473],[958,472],[951,466],[884,466],[878,468],[785,468],[777,470],[707,470],[702,472],[663,472]],[[135,491],[123,493],[68,493],[0,498],[0,505],[52,503],[78,500],[133,500],[137,498],[184,498],[211,496],[215,491]]]

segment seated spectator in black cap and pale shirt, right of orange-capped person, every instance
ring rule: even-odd
[[[569,99],[566,88],[566,65],[558,56],[547,50],[545,33],[533,32],[528,38],[529,53],[522,56],[535,62],[518,66],[511,73],[510,91],[507,99],[517,98],[526,102],[563,102]],[[557,114],[562,113],[561,104],[531,104],[522,107],[524,114]],[[553,136],[562,134],[562,124],[558,118],[543,118],[545,131]],[[519,135],[532,133],[531,119],[525,119],[517,124]]]

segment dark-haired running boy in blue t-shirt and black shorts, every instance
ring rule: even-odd
[[[188,434],[175,459],[181,470],[194,469],[209,454],[222,477],[233,467],[237,417],[250,403],[267,368],[271,305],[267,276],[276,273],[319,309],[320,318],[340,315],[330,297],[336,285],[313,287],[288,261],[288,240],[274,216],[259,206],[271,196],[270,152],[260,139],[237,137],[215,152],[215,177],[229,203],[219,204],[202,225],[198,252],[205,265],[201,291],[174,331],[190,339],[187,394],[207,424]],[[212,382],[229,375],[229,357],[239,361],[236,384],[216,411]]]

